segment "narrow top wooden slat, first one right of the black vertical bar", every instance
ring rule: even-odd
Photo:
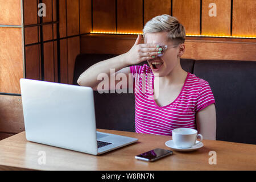
[[[67,19],[66,19],[66,1],[60,0],[59,4],[60,11],[60,22],[59,22],[59,32],[60,38],[67,36]]]

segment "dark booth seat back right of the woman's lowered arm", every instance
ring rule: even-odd
[[[256,61],[197,60],[193,74],[212,89],[216,138],[256,144]]]

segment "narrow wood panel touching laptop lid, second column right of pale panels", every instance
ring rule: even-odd
[[[44,81],[54,82],[53,42],[44,43]]]

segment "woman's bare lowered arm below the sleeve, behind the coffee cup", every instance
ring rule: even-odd
[[[216,140],[216,109],[211,104],[196,113],[196,126],[204,139]]]

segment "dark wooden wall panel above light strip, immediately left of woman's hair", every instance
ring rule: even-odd
[[[117,0],[117,32],[142,33],[142,13],[142,0]]]

